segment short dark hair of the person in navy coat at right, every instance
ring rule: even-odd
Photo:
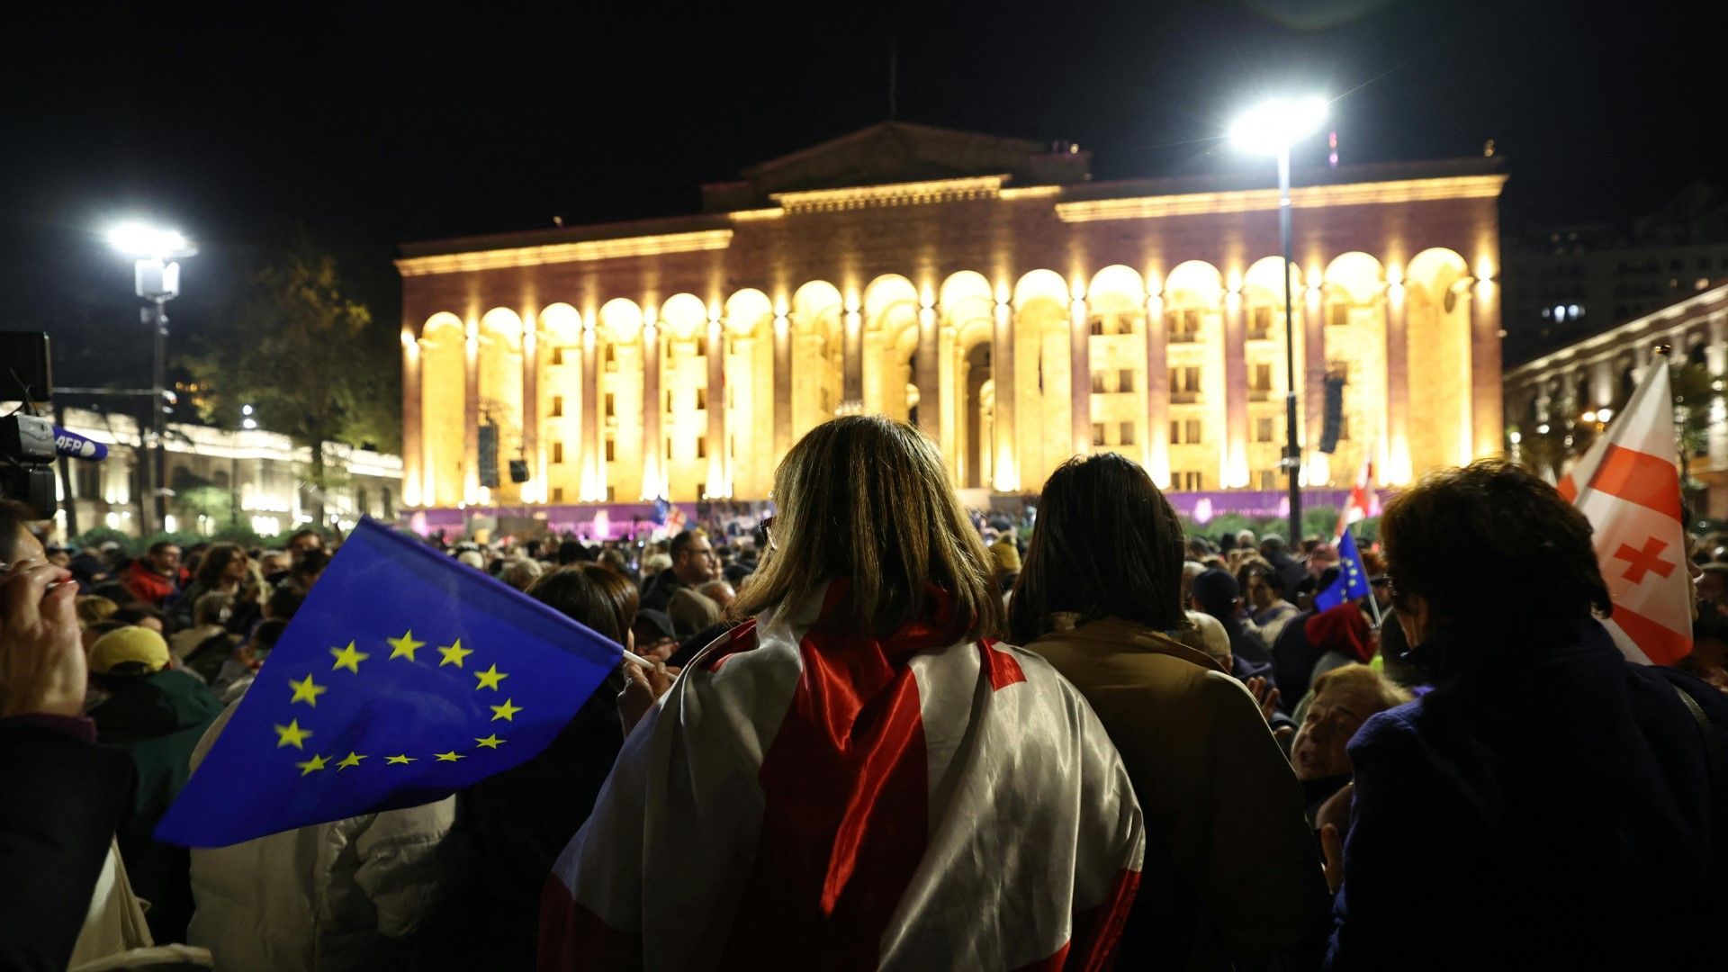
[[[1496,640],[1614,611],[1590,533],[1553,486],[1498,458],[1429,472],[1381,517],[1394,597]]]

